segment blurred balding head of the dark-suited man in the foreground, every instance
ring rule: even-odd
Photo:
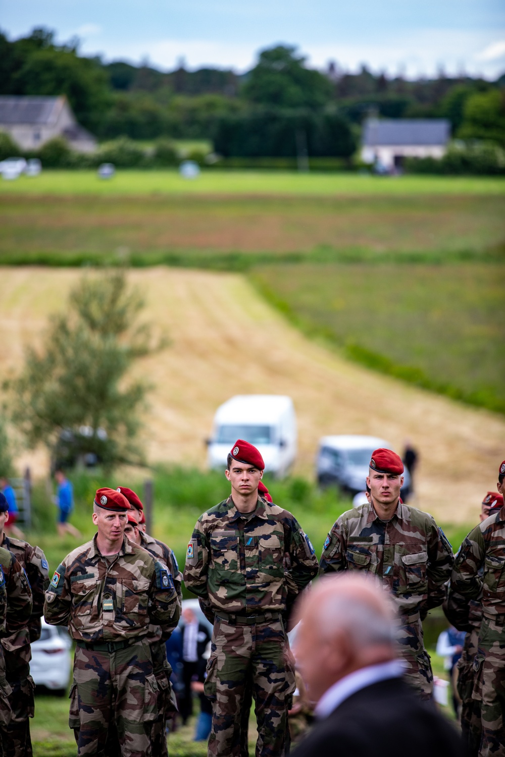
[[[322,578],[297,614],[295,655],[313,701],[344,676],[395,657],[394,609],[373,578]]]

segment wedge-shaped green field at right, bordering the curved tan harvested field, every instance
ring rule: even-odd
[[[351,357],[386,372],[409,366],[413,382],[505,411],[505,264],[300,264],[255,269],[254,278],[302,328]]]

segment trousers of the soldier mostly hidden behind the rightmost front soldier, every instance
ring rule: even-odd
[[[474,628],[466,634],[463,654],[457,663],[457,693],[461,699],[461,735],[466,746],[467,757],[477,757],[482,735],[481,703],[472,697],[475,684],[473,660],[477,654],[478,643],[479,628]]]

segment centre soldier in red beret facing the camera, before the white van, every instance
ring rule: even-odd
[[[209,755],[241,753],[241,712],[251,676],[258,757],[288,750],[295,674],[286,628],[293,603],[317,572],[309,538],[291,512],[258,497],[263,459],[238,439],[228,456],[227,500],[198,519],[184,581],[214,618],[205,693],[213,702]]]

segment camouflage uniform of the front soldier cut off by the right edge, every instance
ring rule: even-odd
[[[482,578],[479,569],[483,568]],[[472,698],[480,702],[481,757],[505,755],[505,507],[470,531],[457,554],[450,591],[466,600],[482,590],[482,624]]]

